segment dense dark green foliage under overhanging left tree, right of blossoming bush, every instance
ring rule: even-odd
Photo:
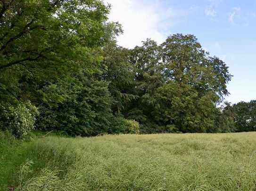
[[[72,136],[95,136],[109,131],[113,99],[105,82],[61,81],[46,86],[40,93],[43,104],[39,107],[39,129],[61,130]]]

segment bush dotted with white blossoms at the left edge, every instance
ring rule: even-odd
[[[30,101],[18,102],[15,105],[0,104],[0,130],[9,130],[17,138],[21,138],[33,130],[37,107]]]

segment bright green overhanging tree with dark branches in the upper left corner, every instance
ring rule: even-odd
[[[100,0],[1,0],[0,94],[20,99],[24,76],[42,84],[97,69],[107,13]]]

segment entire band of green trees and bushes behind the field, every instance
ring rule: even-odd
[[[117,45],[101,0],[0,0],[0,130],[71,136],[256,130],[231,74],[193,35]],[[131,37],[132,38],[132,37]]]

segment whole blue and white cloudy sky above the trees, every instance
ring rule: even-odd
[[[162,43],[175,33],[193,34],[211,56],[221,58],[233,75],[231,103],[256,99],[256,0],[104,0],[109,21],[122,24],[118,45]]]

